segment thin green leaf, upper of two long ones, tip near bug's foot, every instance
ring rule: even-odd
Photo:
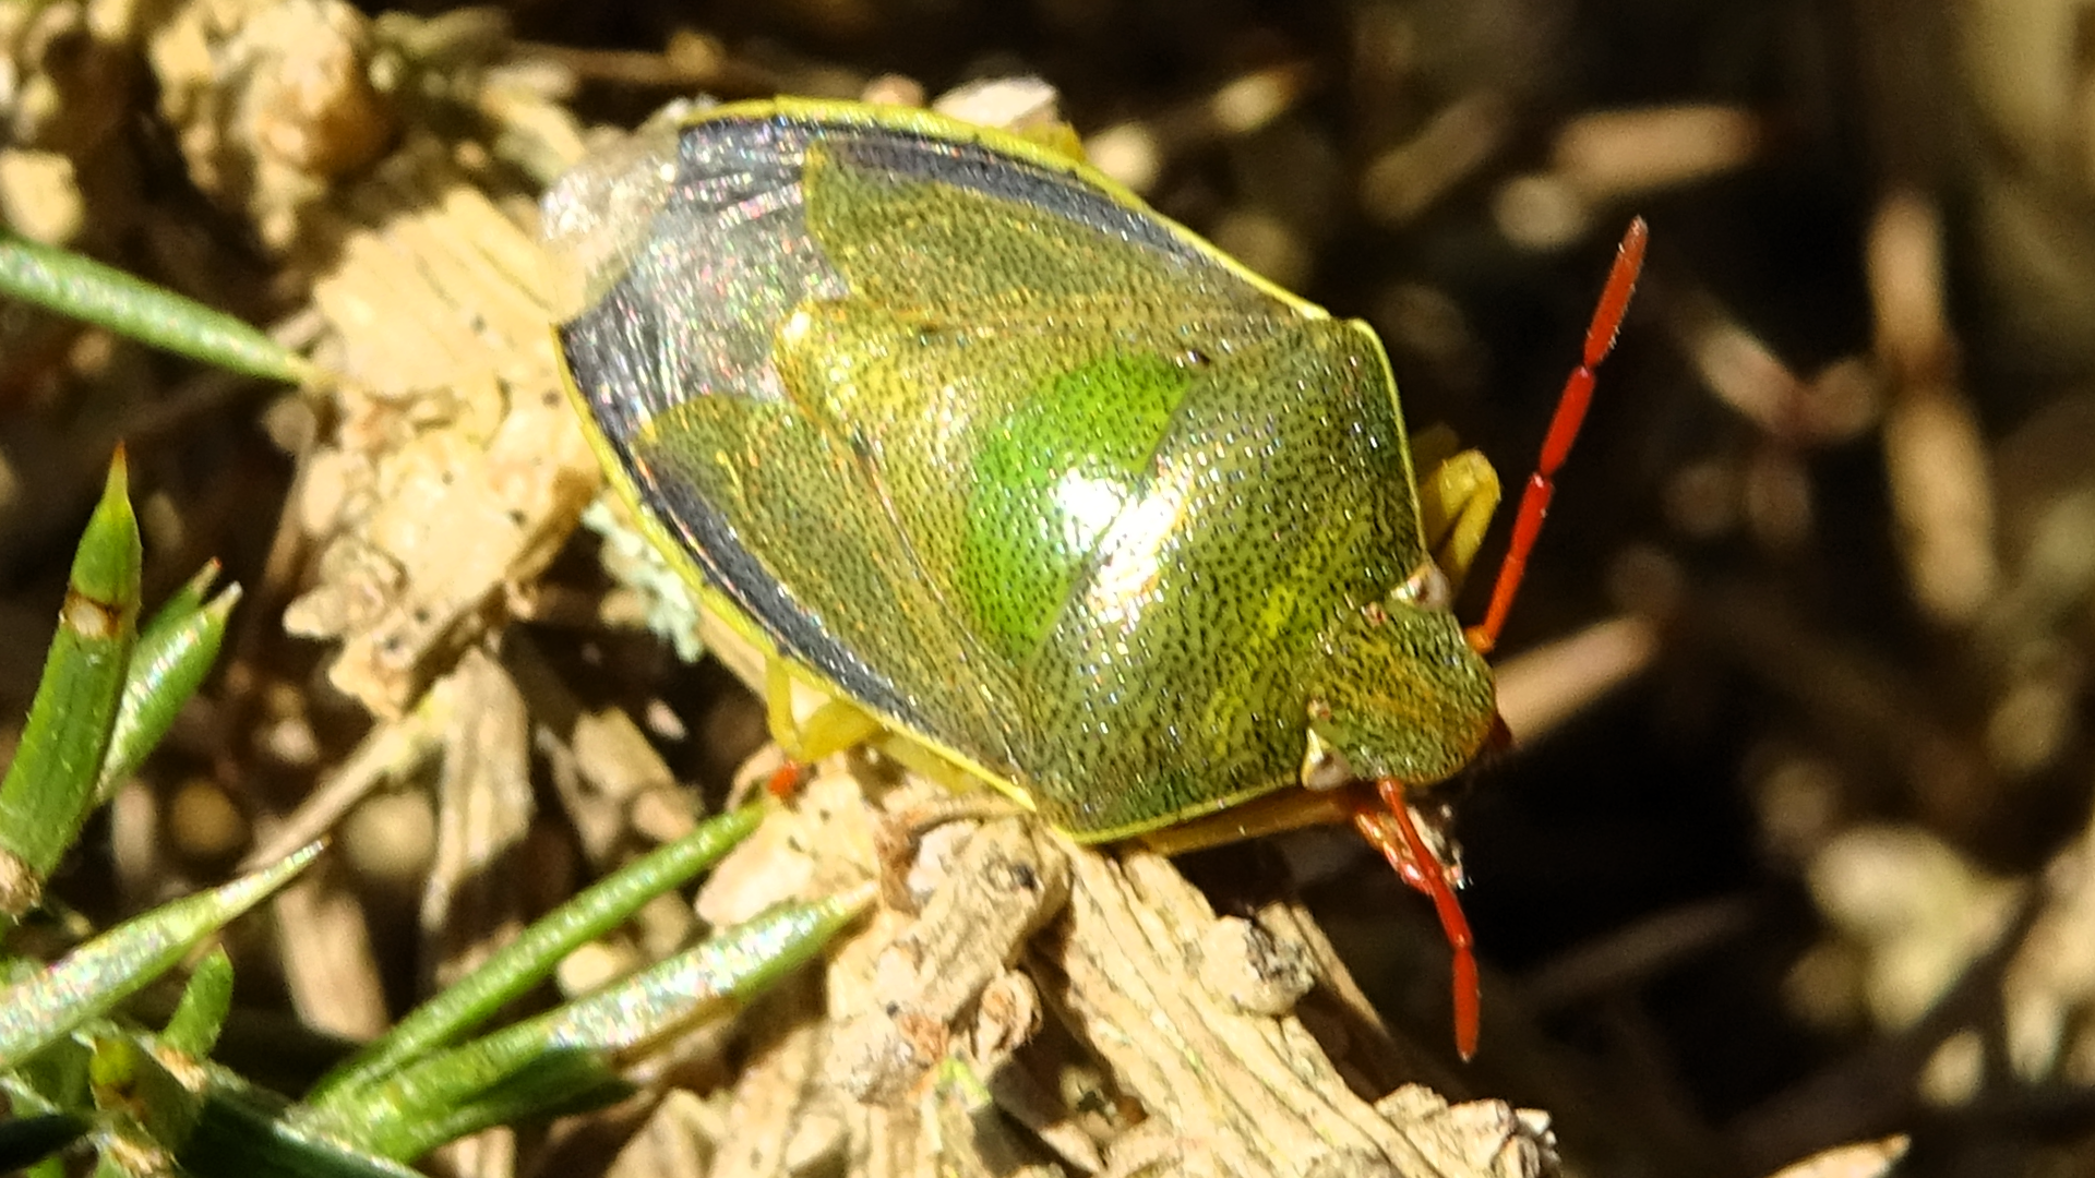
[[[754,803],[702,824],[691,834],[603,876],[593,887],[532,922],[513,943],[459,979],[444,994],[415,1008],[385,1038],[325,1077],[308,1100],[321,1109],[409,1061],[455,1042],[484,1023],[505,1002],[538,985],[576,947],[610,933],[643,903],[683,885],[748,838],[763,820]]]

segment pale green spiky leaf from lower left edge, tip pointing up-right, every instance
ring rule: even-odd
[[[224,887],[117,924],[63,960],[0,991],[0,1067],[40,1048],[174,968],[189,950],[291,880],[321,853],[314,843]]]

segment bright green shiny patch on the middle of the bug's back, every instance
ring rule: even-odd
[[[1100,537],[1142,493],[1190,384],[1165,356],[1102,356],[1058,375],[989,434],[953,581],[1012,662],[1039,648]]]

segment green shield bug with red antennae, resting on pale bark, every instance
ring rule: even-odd
[[[585,166],[547,224],[599,457],[765,652],[790,755],[876,738],[1083,843],[1353,822],[1433,897],[1473,1052],[1458,870],[1418,790],[1502,738],[1485,654],[1642,222],[1469,633],[1441,566],[1475,551],[1490,467],[1467,539],[1429,537],[1372,331],[1050,145],[727,105]],[[832,702],[796,723],[792,681]]]

